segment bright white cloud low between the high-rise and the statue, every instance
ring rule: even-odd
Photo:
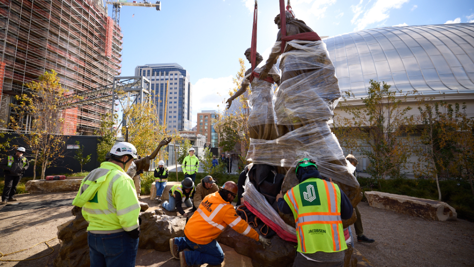
[[[202,78],[193,85],[192,127],[196,124],[197,112],[201,112],[201,110],[225,108],[222,101],[229,98],[228,92],[234,88],[232,78],[232,75],[217,79]],[[219,105],[219,107],[217,105]]]

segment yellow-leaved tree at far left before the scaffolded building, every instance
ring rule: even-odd
[[[45,72],[38,80],[27,83],[31,93],[16,95],[17,105],[12,105],[14,114],[10,117],[10,127],[20,134],[27,143],[28,148],[35,155],[35,166],[41,165],[41,178],[44,179],[46,169],[55,161],[63,158],[66,153],[68,137],[63,135],[64,118],[60,106],[64,95],[68,93],[59,83],[56,72]],[[29,129],[24,118],[31,116],[33,119]],[[35,172],[36,178],[36,172]]]

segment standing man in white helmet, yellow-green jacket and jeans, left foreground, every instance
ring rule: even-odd
[[[110,160],[80,183],[73,205],[82,207],[89,223],[87,243],[91,267],[134,267],[140,236],[140,205],[133,180],[125,173],[137,149],[131,143],[115,144]]]

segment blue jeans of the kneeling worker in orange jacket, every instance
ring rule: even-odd
[[[220,265],[224,261],[224,252],[216,240],[212,240],[205,245],[199,245],[185,237],[176,237],[174,243],[178,246],[178,251],[189,249],[184,252],[186,264],[193,265]]]

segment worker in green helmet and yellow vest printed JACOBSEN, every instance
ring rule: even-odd
[[[276,196],[278,209],[293,213],[298,253],[293,267],[344,266],[347,249],[342,220],[352,217],[353,207],[337,184],[324,180],[314,160],[296,164],[299,184]]]

